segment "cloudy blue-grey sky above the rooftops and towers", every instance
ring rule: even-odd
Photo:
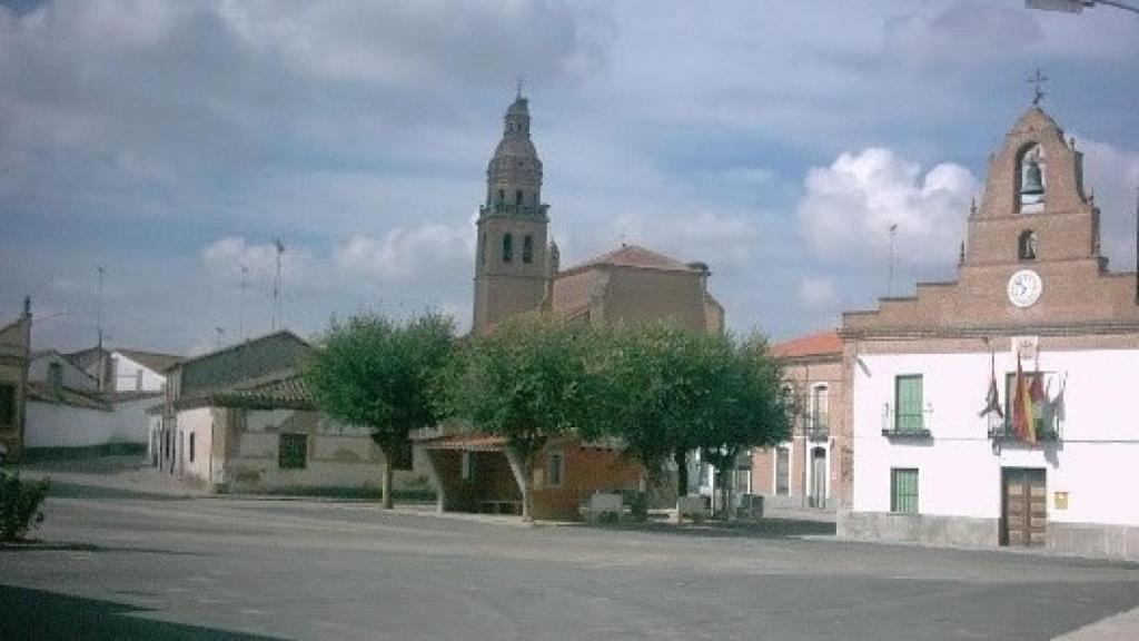
[[[281,238],[302,336],[465,328],[522,79],[563,266],[637,243],[708,263],[735,332],[835,327],[954,277],[1038,67],[1133,270],[1139,15],[1109,7],[0,0],[0,322],[28,294],[36,347],[198,354],[270,331]]]

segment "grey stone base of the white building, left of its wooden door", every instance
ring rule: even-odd
[[[911,542],[970,547],[998,544],[998,519],[893,514],[839,510],[838,536],[859,541]]]

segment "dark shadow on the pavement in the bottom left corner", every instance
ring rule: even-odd
[[[0,585],[0,639],[74,640],[233,640],[278,638],[131,616],[148,608]],[[279,641],[279,640],[278,640]]]

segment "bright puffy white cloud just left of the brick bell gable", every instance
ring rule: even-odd
[[[900,260],[939,265],[956,255],[977,179],[952,163],[923,175],[919,164],[871,147],[811,169],[804,187],[800,232],[820,258],[880,258],[890,249],[890,227],[898,225]]]

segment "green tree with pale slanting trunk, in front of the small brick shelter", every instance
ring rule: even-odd
[[[597,397],[590,371],[596,334],[579,325],[511,319],[472,336],[436,382],[441,407],[474,429],[506,438],[507,457],[531,520],[536,455],[550,439],[588,431]]]

